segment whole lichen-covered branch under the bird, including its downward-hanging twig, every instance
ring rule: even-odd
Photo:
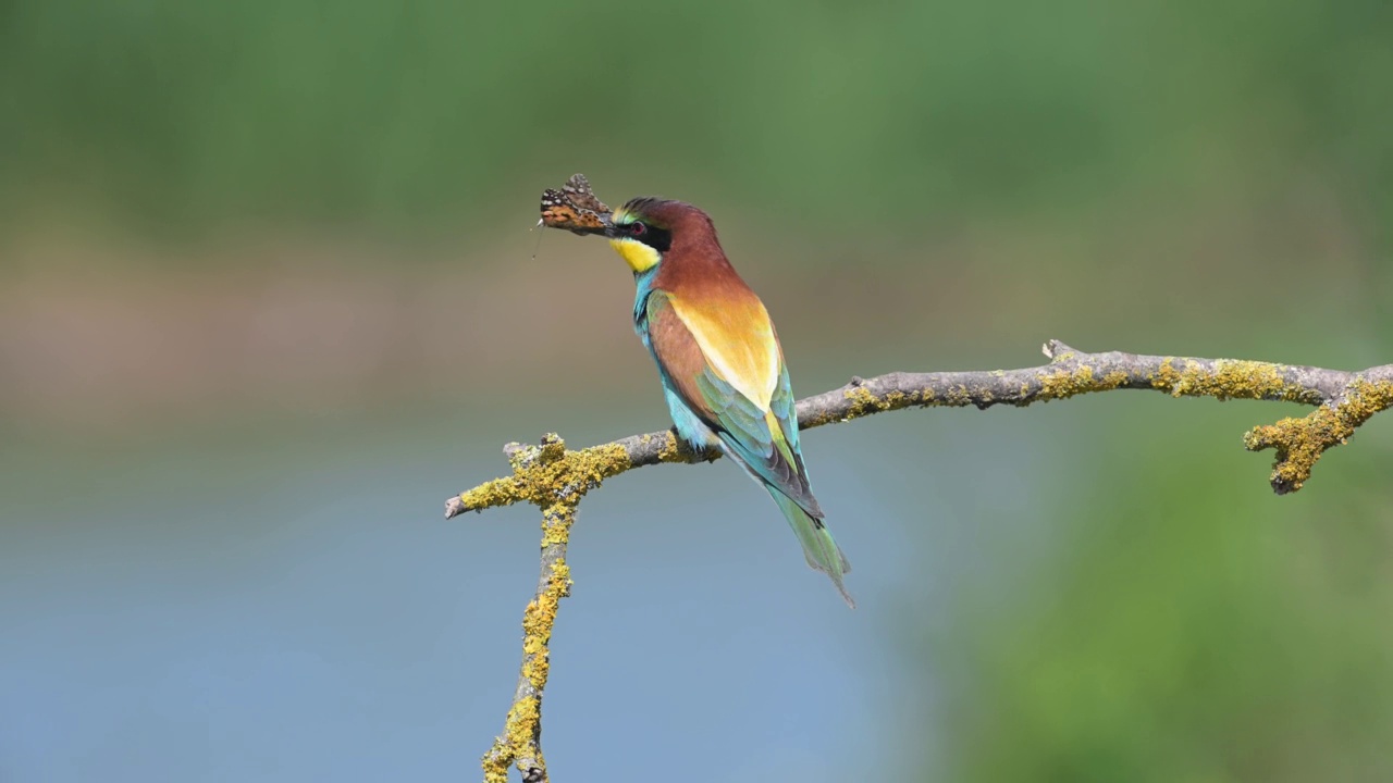
[[[1270,483],[1277,495],[1301,489],[1321,456],[1348,442],[1355,428],[1393,407],[1393,365],[1360,372],[1247,359],[1151,357],[1117,351],[1087,354],[1050,340],[1041,366],[985,372],[892,372],[853,378],[798,401],[802,429],[910,407],[1024,407],[1114,389],[1151,389],[1173,397],[1283,400],[1316,405],[1304,418],[1284,418],[1244,435],[1250,451],[1273,449]],[[446,502],[446,518],[465,511],[528,502],[542,509],[542,574],[522,620],[522,670],[503,734],[483,757],[485,780],[507,780],[517,763],[528,783],[546,780],[540,750],[540,706],[556,609],[570,591],[566,546],[581,497],[605,479],[659,463],[699,463],[717,451],[692,451],[673,431],[632,435],[613,443],[567,451],[556,435],[539,446],[510,443],[513,475],[497,478]]]

